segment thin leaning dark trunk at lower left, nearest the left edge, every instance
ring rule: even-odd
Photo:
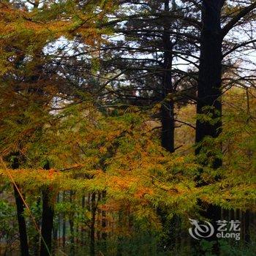
[[[18,157],[15,157],[12,163],[12,169],[18,169],[18,167],[19,167]],[[28,236],[26,233],[26,220],[25,220],[25,217],[23,216],[25,206],[18,192],[18,189],[20,190],[18,184],[16,184],[16,186],[17,187],[13,185],[13,189],[14,189],[14,195],[15,195],[18,227],[19,227],[19,234],[20,234],[20,255],[29,256],[29,243],[28,243]]]

